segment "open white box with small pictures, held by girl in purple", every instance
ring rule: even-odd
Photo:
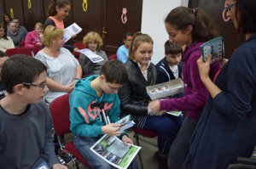
[[[150,99],[162,99],[173,94],[183,93],[184,83],[181,78],[174,79],[169,82],[163,82],[154,86],[146,87]]]

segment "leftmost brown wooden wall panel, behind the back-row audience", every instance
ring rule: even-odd
[[[20,25],[24,25],[24,14],[23,14],[23,6],[22,1],[17,0],[5,0],[5,11],[12,18],[17,18],[20,20]]]

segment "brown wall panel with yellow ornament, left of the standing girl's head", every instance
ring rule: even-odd
[[[27,31],[33,31],[35,24],[44,24],[44,8],[41,0],[23,0],[24,25]]]

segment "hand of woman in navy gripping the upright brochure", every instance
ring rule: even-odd
[[[208,54],[206,62],[203,61],[202,56],[197,60],[201,82],[205,82],[209,78],[211,59],[212,54]]]

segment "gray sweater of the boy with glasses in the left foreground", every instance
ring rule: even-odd
[[[51,135],[48,106],[29,104],[22,115],[11,115],[0,107],[0,168],[27,169],[47,161],[59,163]]]

